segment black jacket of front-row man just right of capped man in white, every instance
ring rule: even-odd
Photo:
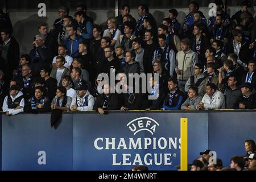
[[[108,107],[104,110],[120,110],[122,103],[119,100],[117,94],[110,94],[109,97],[106,97],[108,101]],[[98,111],[98,108],[102,108],[105,100],[105,94],[100,94],[97,96],[97,99],[94,103],[93,110]]]

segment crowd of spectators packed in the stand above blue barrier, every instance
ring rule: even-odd
[[[32,49],[23,55],[11,36],[10,18],[1,11],[0,108],[7,115],[55,109],[100,114],[256,109],[256,42],[251,35],[255,22],[248,11],[250,1],[243,1],[233,16],[224,11],[221,0],[214,3],[217,14],[207,21],[199,4],[190,2],[183,24],[176,19],[176,9],[156,22],[146,4],[138,6],[138,20],[130,14],[130,6],[123,5],[122,14],[108,18],[106,28],[94,24],[86,6],[77,6],[74,16],[62,6],[53,29],[48,31],[47,23],[30,27],[38,28],[38,35],[31,36]],[[150,74],[151,92],[136,93],[134,86],[122,82],[127,92],[112,93],[114,88],[104,82],[99,93],[98,85],[106,80],[98,75],[111,75],[113,70],[114,76],[122,73],[121,82],[131,73]]]

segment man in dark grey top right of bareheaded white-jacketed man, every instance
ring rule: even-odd
[[[234,76],[230,76],[228,79],[229,88],[226,90],[226,109],[234,109],[235,104],[242,96],[241,89],[237,86],[237,79]]]

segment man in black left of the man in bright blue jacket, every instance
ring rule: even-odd
[[[46,42],[44,42],[44,46],[48,49],[48,57],[49,59],[52,59],[53,56],[57,53],[57,47],[58,44],[56,42],[56,39],[53,38],[52,34],[48,33],[48,24],[47,23],[40,23],[38,26],[38,31],[41,35],[46,38]]]

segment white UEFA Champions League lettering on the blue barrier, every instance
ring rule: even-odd
[[[141,117],[133,119],[123,127],[128,127],[134,136],[142,132],[154,136],[159,132],[160,125],[155,119]],[[142,135],[145,136],[143,133]],[[112,166],[172,166],[172,159],[177,158],[180,150],[180,142],[178,137],[100,137],[94,140],[94,148],[108,154],[113,151],[110,164]]]

